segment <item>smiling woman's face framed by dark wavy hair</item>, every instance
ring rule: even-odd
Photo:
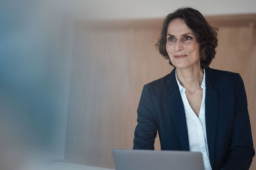
[[[177,68],[200,67],[199,44],[184,20],[172,20],[166,34],[166,51]]]

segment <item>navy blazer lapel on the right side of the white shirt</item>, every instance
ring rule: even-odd
[[[205,69],[205,124],[209,157],[213,168],[216,124],[218,118],[218,91],[214,89],[215,80],[211,69]]]

